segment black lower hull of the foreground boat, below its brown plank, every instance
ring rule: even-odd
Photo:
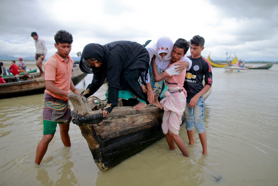
[[[100,115],[101,120],[89,122],[78,120],[76,116],[77,114],[74,114],[74,123],[78,124],[82,135],[88,142],[94,161],[101,171],[115,167],[165,137],[161,128],[163,112],[158,114],[157,120],[145,124],[145,128],[140,124],[140,126],[110,132],[109,135],[101,135],[101,132],[96,131],[96,128],[99,127],[98,122],[103,122],[102,114]],[[120,125],[120,123],[118,124]]]

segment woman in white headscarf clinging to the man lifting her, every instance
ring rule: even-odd
[[[156,56],[155,63],[156,67],[159,71],[159,73],[162,73],[162,71],[165,71],[168,65],[171,62],[171,52],[173,50],[173,41],[166,36],[162,36],[158,38],[157,41],[151,41],[148,45],[146,45],[146,49],[148,50],[150,54],[150,63],[153,56]],[[182,57],[179,63],[176,63],[175,65],[178,65],[176,67],[176,71],[182,72],[185,68],[187,70],[191,67],[191,60],[187,58],[186,56]],[[154,81],[153,76],[153,69],[150,65],[149,71],[148,71],[148,79],[143,84],[141,82],[141,87],[144,93],[148,95],[148,102],[150,104],[153,104],[154,106],[157,106],[162,109],[161,104],[158,101],[158,97],[160,96],[160,93],[162,92],[162,86],[163,86],[163,80],[160,82]]]

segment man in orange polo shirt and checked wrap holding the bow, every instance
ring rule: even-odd
[[[57,52],[44,64],[45,88],[43,101],[43,138],[37,146],[35,163],[40,165],[48,144],[60,127],[62,142],[69,147],[70,121],[72,119],[69,99],[70,90],[80,94],[71,80],[73,60],[69,56],[73,37],[70,32],[60,30],[54,36]]]

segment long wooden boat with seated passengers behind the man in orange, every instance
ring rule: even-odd
[[[4,77],[6,83],[0,84],[0,99],[43,93],[45,90],[44,77],[40,78],[40,72],[29,74],[32,76],[31,80],[27,80],[24,75],[19,75],[19,82],[16,81],[15,76]],[[75,63],[71,76],[74,85],[78,84],[86,75]]]

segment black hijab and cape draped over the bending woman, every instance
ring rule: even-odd
[[[102,63],[101,66],[92,67],[83,60],[87,57],[94,57]],[[139,69],[147,74],[149,58],[147,49],[136,42],[115,41],[106,45],[91,43],[84,47],[79,67],[84,73],[94,73],[92,84],[100,87],[107,78],[109,86],[121,89],[128,72]]]

